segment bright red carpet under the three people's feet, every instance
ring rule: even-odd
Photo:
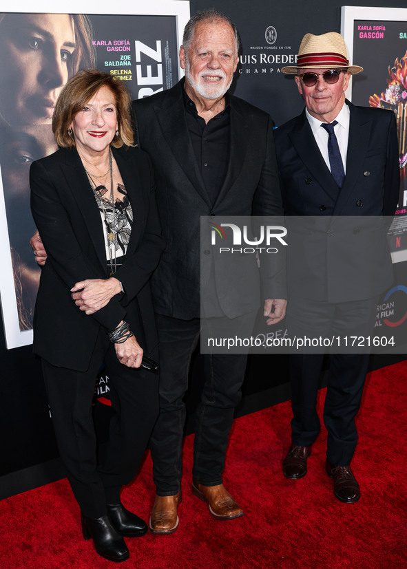
[[[320,391],[320,416],[324,390]],[[213,519],[191,495],[192,437],[185,440],[184,500],[180,527],[169,536],[127,539],[125,568],[351,568],[407,567],[407,361],[368,376],[358,416],[353,471],[362,497],[342,504],[324,472],[322,430],[302,480],[286,480],[282,458],[289,447],[289,402],[236,420],[225,485],[245,515]],[[147,519],[154,500],[147,457],[123,503]],[[79,508],[61,480],[7,500],[1,507],[3,569],[107,568],[92,541],[84,541]]]

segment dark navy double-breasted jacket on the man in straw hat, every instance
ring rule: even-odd
[[[394,114],[346,104],[350,127],[346,177],[340,191],[305,111],[275,131],[284,213],[312,216],[315,225],[310,231],[305,221],[293,224],[289,289],[294,286],[295,293],[305,299],[333,303],[375,297],[391,285],[388,224],[382,216],[394,215],[399,197]],[[290,233],[289,219],[286,222]],[[295,287],[298,283],[300,287]]]

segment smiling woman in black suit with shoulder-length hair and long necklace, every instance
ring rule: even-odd
[[[32,215],[48,254],[34,352],[83,537],[110,561],[129,557],[123,536],[147,532],[121,504],[120,491],[136,473],[158,414],[158,377],[145,367],[156,358],[149,277],[163,239],[152,167],[132,147],[129,109],[121,81],[98,71],[76,74],[52,118],[60,150],[30,170]],[[103,363],[114,416],[96,459],[92,397]]]

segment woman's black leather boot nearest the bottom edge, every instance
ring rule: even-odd
[[[109,561],[125,561],[129,559],[129,550],[125,540],[118,535],[107,515],[91,519],[81,513],[83,539],[93,539],[94,548],[98,555]]]

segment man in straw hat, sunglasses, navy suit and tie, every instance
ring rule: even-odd
[[[295,75],[306,106],[300,116],[275,131],[284,211],[287,216],[315,216],[317,224],[331,224],[325,225],[330,229],[320,241],[322,254],[310,248],[312,254],[300,258],[304,269],[300,290],[293,297],[289,290],[289,326],[294,323],[295,330],[304,333],[316,322],[322,336],[325,332],[332,337],[339,330],[343,337],[352,334],[351,327],[359,319],[368,334],[375,320],[376,299],[392,283],[390,255],[385,248],[368,260],[357,250],[345,259],[335,257],[335,261],[329,255],[335,239],[332,224],[335,219],[345,219],[337,216],[357,216],[355,224],[373,219],[364,216],[393,216],[399,195],[394,114],[355,107],[345,99],[351,74],[362,71],[358,65],[349,65],[344,39],[336,32],[306,34],[297,65],[282,68],[283,73]],[[358,231],[351,231],[355,234],[352,238],[358,237]],[[375,238],[374,232],[371,235]],[[335,292],[331,290],[331,285],[335,286],[332,270],[337,270],[342,281],[342,275],[353,275],[343,283],[346,286],[336,283]],[[335,497],[351,503],[360,497],[350,464],[357,442],[355,416],[369,356],[337,351],[330,355],[324,405],[326,473],[333,478]],[[320,431],[316,399],[323,357],[315,353],[290,356],[292,444],[283,461],[283,472],[292,480],[306,475],[307,459]]]

